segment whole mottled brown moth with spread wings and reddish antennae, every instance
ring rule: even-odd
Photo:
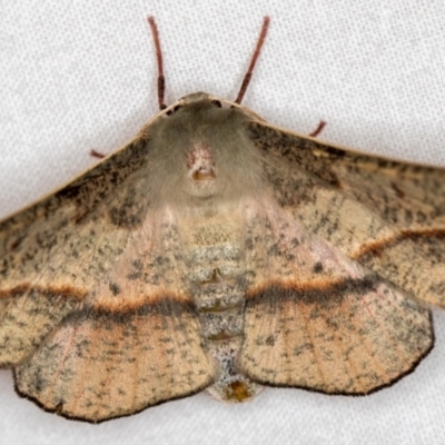
[[[102,422],[206,389],[365,395],[433,347],[445,170],[333,147],[204,92],[0,222],[0,364]]]

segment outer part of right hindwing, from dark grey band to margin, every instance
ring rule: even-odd
[[[429,310],[376,277],[251,291],[238,367],[254,382],[364,395],[411,373],[434,344]]]

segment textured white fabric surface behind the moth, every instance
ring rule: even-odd
[[[264,14],[269,36],[244,105],[280,127],[445,166],[442,0],[0,1],[0,217],[68,181],[157,111],[147,14],[167,101],[236,97]],[[225,406],[200,394],[98,426],[18,398],[0,370],[1,444],[439,444],[445,313],[416,372],[368,397],[267,389]]]

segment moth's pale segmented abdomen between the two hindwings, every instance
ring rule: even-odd
[[[186,227],[186,226],[182,226]],[[198,309],[205,348],[216,359],[219,377],[208,392],[219,400],[241,402],[260,386],[238,373],[243,345],[246,279],[243,212],[239,206],[211,214],[190,212],[182,234],[187,281]]]

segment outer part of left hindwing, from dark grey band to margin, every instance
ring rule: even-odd
[[[131,310],[71,313],[14,369],[17,392],[92,423],[187,397],[215,382],[194,307],[164,297]]]

